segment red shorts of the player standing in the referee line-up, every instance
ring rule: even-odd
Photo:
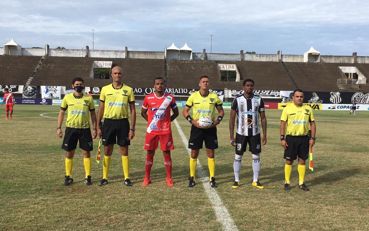
[[[169,151],[174,149],[172,132],[165,135],[154,135],[146,132],[145,137],[145,150],[156,150],[158,149],[158,143],[160,140],[160,149],[162,151]]]

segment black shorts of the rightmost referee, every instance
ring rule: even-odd
[[[284,159],[296,160],[297,156],[303,159],[307,159],[309,155],[309,137],[306,136],[292,136],[286,135],[287,149],[284,150]]]

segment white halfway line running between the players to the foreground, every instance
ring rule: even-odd
[[[179,132],[179,135],[182,137],[182,141],[184,146],[188,145],[188,140],[186,136],[184,135],[181,127],[179,126],[177,120],[174,120],[174,123],[176,124],[177,130]],[[189,155],[191,155],[191,149],[187,148],[187,151]],[[206,195],[209,197],[211,204],[213,205],[215,216],[217,216],[217,220],[220,221],[220,223],[223,226],[223,230],[226,231],[238,231],[237,226],[234,224],[233,219],[231,218],[231,215],[228,213],[227,208],[223,205],[223,201],[218,196],[217,191],[215,189],[212,189],[209,185],[209,177],[206,176],[203,167],[201,166],[201,163],[199,159],[197,159],[197,167],[196,167],[197,173],[201,179],[201,182],[203,183]],[[199,178],[197,177],[197,178]]]

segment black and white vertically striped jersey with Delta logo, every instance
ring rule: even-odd
[[[236,97],[232,101],[232,110],[237,113],[237,129],[240,135],[257,135],[260,133],[259,112],[265,111],[264,100],[252,95],[246,98],[244,94]]]

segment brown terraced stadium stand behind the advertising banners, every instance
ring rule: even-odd
[[[71,79],[82,77],[85,86],[102,87],[111,79],[92,79],[93,61],[112,61],[113,66],[123,68],[123,82],[131,87],[152,87],[155,77],[166,77],[168,88],[197,89],[199,77],[210,77],[211,89],[242,89],[244,79],[255,80],[257,90],[294,90],[299,87],[317,92],[369,92],[368,84],[358,89],[338,87],[337,79],[347,78],[339,66],[356,66],[369,77],[368,63],[305,63],[262,61],[203,61],[138,58],[89,58],[46,56],[0,56],[0,84],[69,86]],[[241,75],[240,82],[222,82],[218,63],[236,64]],[[37,69],[37,66],[39,68]],[[37,70],[35,72],[35,70]],[[165,75],[166,73],[166,75]],[[368,81],[367,81],[368,83]]]

